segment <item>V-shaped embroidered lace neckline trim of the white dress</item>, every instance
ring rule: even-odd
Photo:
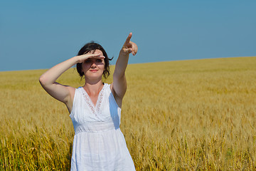
[[[100,90],[100,93],[98,95],[98,98],[97,98],[97,102],[96,102],[96,105],[94,105],[92,103],[92,100],[90,99],[90,96],[88,95],[88,93],[86,92],[86,90],[84,88],[82,88],[82,96],[85,98],[85,101],[88,105],[88,107],[90,108],[90,110],[92,111],[92,113],[94,115],[97,116],[97,114],[100,112],[100,107],[101,107],[101,104],[102,104],[102,99],[103,99],[103,92],[104,92],[104,89],[105,89],[105,85],[103,85],[102,87],[102,90]]]

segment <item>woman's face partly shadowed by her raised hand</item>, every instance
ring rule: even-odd
[[[103,56],[102,51],[96,50],[94,53],[88,52],[91,54],[99,54]],[[86,79],[95,80],[97,78],[102,78],[102,73],[105,70],[105,61],[104,58],[87,58],[82,63],[82,72],[85,74]]]

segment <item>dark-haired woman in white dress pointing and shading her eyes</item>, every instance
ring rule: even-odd
[[[43,88],[65,103],[73,121],[75,136],[71,170],[135,170],[124,136],[119,128],[122,98],[127,89],[125,70],[129,53],[136,55],[137,45],[129,33],[119,53],[113,83],[102,82],[109,72],[109,58],[97,43],[87,43],[78,56],[50,68],[40,77]],[[85,85],[80,88],[55,82],[68,68],[77,64]]]

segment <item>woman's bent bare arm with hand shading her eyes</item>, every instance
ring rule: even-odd
[[[55,82],[58,77],[63,74],[65,71],[68,70],[71,66],[75,65],[76,63],[82,63],[87,58],[103,58],[99,54],[85,54],[82,56],[75,56],[73,58],[68,59],[62,63],[53,66],[50,68],[46,73],[39,78],[39,82],[41,86],[46,90],[46,92],[53,96],[53,98],[60,100],[61,102],[65,103],[68,107],[68,110],[72,108],[73,97],[75,93],[75,88],[70,86],[64,86],[60,83]]]

